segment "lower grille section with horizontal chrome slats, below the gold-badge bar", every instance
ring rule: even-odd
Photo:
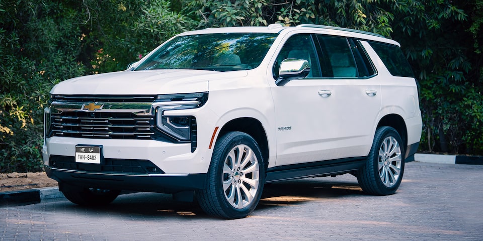
[[[51,136],[149,140],[154,115],[126,112],[63,111],[52,113]]]

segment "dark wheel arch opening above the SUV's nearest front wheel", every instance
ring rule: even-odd
[[[228,132],[244,132],[250,135],[260,147],[265,169],[268,166],[269,146],[265,128],[258,119],[253,117],[239,117],[227,122],[220,130],[216,141]]]

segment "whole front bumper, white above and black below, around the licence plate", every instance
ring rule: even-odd
[[[102,146],[102,164],[75,163],[75,145]],[[205,150],[205,149],[203,149]],[[203,189],[209,153],[154,140],[52,137],[42,156],[47,175],[81,187],[176,193]]]

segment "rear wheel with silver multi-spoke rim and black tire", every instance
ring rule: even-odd
[[[373,195],[394,194],[403,179],[404,153],[394,128],[378,128],[366,164],[357,173],[362,190]]]

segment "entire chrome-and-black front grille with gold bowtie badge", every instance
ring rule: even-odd
[[[156,115],[162,113],[159,112],[160,106],[197,108],[206,102],[207,97],[207,93],[164,95],[162,98],[150,95],[51,95],[44,116],[45,136],[191,142],[191,152],[194,152],[197,148],[194,116],[189,116],[191,139],[180,140],[169,131],[156,127]]]

